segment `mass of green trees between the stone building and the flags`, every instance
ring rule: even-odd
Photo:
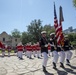
[[[50,24],[48,25],[42,25],[42,21],[39,20],[33,20],[30,25],[27,26],[27,32],[22,32],[22,35],[20,31],[17,29],[14,29],[12,31],[13,37],[21,37],[22,43],[26,44],[28,42],[37,42],[39,41],[41,37],[41,31],[45,30],[47,32],[47,37],[49,38],[50,33],[55,32],[54,27],[52,27]]]

